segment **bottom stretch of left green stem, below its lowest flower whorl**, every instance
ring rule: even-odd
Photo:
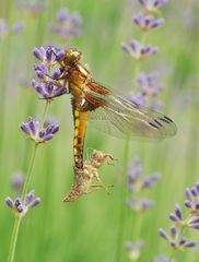
[[[16,241],[17,241],[21,219],[22,219],[21,216],[15,216],[14,227],[13,227],[12,237],[11,237],[8,262],[13,262],[14,261],[14,254],[15,254],[15,249],[16,249]]]

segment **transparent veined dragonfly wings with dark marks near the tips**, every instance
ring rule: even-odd
[[[176,134],[177,128],[172,119],[122,96],[91,91],[85,98],[90,104],[96,100],[101,105],[90,114],[92,126],[113,136],[161,140]]]

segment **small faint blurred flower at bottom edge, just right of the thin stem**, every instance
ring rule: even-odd
[[[130,261],[137,261],[143,249],[144,241],[142,239],[138,240],[136,243],[131,241],[126,242],[126,250]]]

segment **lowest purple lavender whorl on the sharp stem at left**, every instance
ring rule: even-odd
[[[40,199],[35,198],[35,191],[32,190],[25,195],[24,202],[19,196],[15,200],[12,200],[10,196],[8,196],[5,199],[5,203],[9,207],[12,209],[15,215],[24,216],[28,210],[37,206],[40,203]]]

